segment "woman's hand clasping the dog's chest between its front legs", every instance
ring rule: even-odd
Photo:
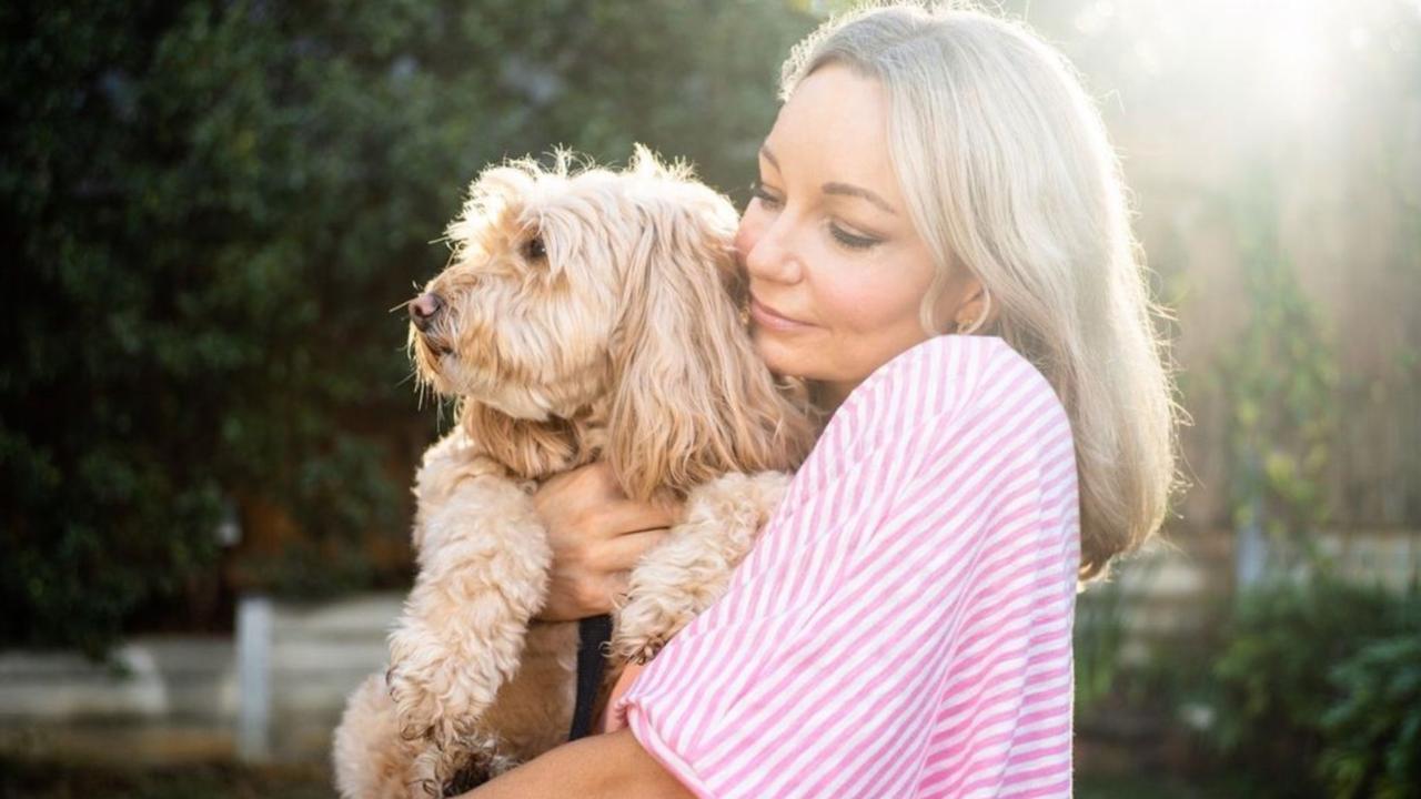
[[[597,462],[557,475],[533,495],[553,547],[541,621],[574,621],[612,610],[627,593],[631,567],[666,536],[679,505],[632,502],[610,465]]]

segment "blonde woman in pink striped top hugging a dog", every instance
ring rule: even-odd
[[[1162,347],[1100,117],[985,14],[867,10],[784,65],[736,239],[759,353],[833,411],[726,596],[585,738],[470,796],[1070,793],[1079,581],[1160,526]],[[671,515],[549,483],[544,616]]]

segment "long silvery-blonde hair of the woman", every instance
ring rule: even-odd
[[[936,260],[922,324],[958,269],[1071,419],[1080,579],[1138,547],[1175,481],[1177,407],[1118,161],[1080,80],[1050,45],[966,7],[895,4],[823,24],[784,63],[780,100],[826,64],[880,81],[890,155]]]

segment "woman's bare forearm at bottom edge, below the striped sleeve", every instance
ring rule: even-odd
[[[463,799],[688,799],[691,793],[655,761],[630,729],[566,744]]]

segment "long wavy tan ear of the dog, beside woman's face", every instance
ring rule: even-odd
[[[740,320],[733,208],[685,168],[657,169],[638,151],[631,172],[654,188],[634,202],[641,225],[611,341],[608,459],[637,499],[791,469],[813,441],[806,407],[776,385]]]

